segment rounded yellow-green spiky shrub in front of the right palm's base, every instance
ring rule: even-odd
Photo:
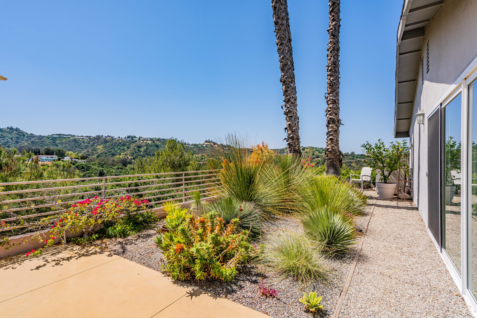
[[[361,215],[367,197],[348,182],[333,176],[313,177],[303,192],[301,212],[316,211],[324,206],[343,214]]]

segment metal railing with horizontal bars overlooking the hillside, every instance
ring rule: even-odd
[[[64,212],[61,206],[91,198],[94,195],[112,199],[124,195],[137,195],[149,201],[148,208],[163,202],[201,196],[213,196],[220,188],[219,170],[170,172],[160,174],[134,174],[0,183],[0,210],[10,216],[0,219],[0,232],[11,230],[9,221],[34,221],[45,215]],[[58,207],[61,208],[58,208]],[[0,214],[1,215],[1,214]],[[29,222],[31,223],[31,222]],[[21,227],[29,226],[24,224]],[[16,226],[19,228],[19,226]]]

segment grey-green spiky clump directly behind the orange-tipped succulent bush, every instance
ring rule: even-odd
[[[237,229],[239,231],[249,231],[251,238],[257,237],[260,234],[262,215],[253,203],[239,201],[234,197],[228,196],[219,198],[216,202],[206,205],[204,210],[205,212],[216,211],[224,219],[226,225],[233,219],[239,219]]]

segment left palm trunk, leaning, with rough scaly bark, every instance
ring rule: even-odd
[[[285,132],[287,133],[288,152],[301,155],[300,134],[297,113],[297,89],[295,86],[295,67],[291,49],[290,20],[287,0],[271,0],[275,35],[277,37],[278,61],[280,62],[280,82],[285,106]],[[284,139],[284,140],[285,140]]]

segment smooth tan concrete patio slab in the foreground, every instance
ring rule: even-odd
[[[119,256],[58,248],[0,262],[1,317],[268,317]]]

